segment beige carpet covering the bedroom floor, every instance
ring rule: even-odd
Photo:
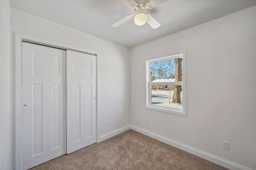
[[[227,170],[151,137],[128,130],[31,170]]]

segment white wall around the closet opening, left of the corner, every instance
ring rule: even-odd
[[[11,8],[11,64],[12,64],[12,147],[15,148],[14,113],[14,32],[24,33],[43,39],[82,47],[100,54],[100,129],[98,136],[130,125],[130,87],[125,86],[130,79],[130,49],[109,41],[82,33],[52,21],[33,16]],[[124,85],[122,85],[124,84]],[[108,127],[108,121],[112,122]],[[12,150],[12,164],[15,162],[15,149]]]

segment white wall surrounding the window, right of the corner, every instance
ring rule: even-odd
[[[256,169],[255,16],[256,6],[132,48],[131,124]],[[146,61],[184,50],[187,117],[145,109]]]

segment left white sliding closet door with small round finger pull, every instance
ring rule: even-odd
[[[66,154],[66,51],[22,42],[22,169]]]

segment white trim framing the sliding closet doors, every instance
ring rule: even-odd
[[[16,117],[16,147],[15,147],[15,169],[22,169],[22,41],[28,43],[34,43],[38,45],[44,45],[47,47],[54,47],[58,49],[77,51],[80,53],[86,53],[96,56],[96,141],[99,142],[99,113],[100,113],[100,102],[99,102],[99,66],[100,66],[100,55],[97,51],[84,49],[64,43],[58,43],[55,41],[26,35],[23,33],[15,32],[15,117]]]

